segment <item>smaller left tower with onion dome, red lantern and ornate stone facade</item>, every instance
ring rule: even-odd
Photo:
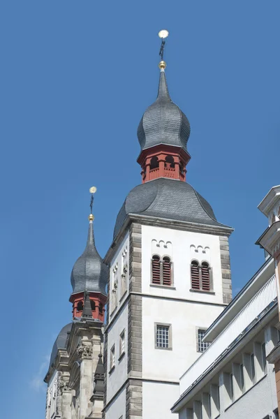
[[[54,342],[47,383],[46,419],[101,419],[103,409],[103,320],[108,268],[94,243],[89,215],[87,244],[71,273],[73,321]]]

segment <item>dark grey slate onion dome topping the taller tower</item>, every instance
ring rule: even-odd
[[[141,151],[159,144],[175,145],[186,150],[190,133],[186,115],[170,99],[165,72],[162,70],[158,97],[147,108],[138,126]]]

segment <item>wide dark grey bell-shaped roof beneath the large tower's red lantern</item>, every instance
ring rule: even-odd
[[[216,221],[211,205],[190,184],[165,177],[138,185],[128,193],[117,216],[114,237],[128,214],[227,227]]]

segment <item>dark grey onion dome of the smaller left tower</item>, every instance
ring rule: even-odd
[[[78,258],[71,272],[73,294],[91,291],[106,295],[105,286],[108,280],[108,267],[102,262],[94,243],[94,228],[89,221],[87,246]]]

